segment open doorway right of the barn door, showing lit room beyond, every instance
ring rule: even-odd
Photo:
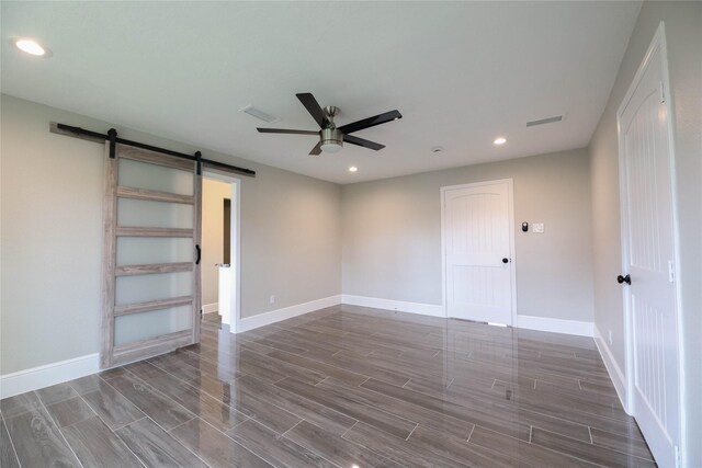
[[[203,319],[217,313],[236,333],[239,323],[240,181],[205,171],[202,178]]]

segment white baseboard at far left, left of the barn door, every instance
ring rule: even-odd
[[[100,372],[100,354],[32,367],[0,376],[0,398],[13,397]]]

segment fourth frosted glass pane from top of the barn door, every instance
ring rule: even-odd
[[[115,304],[117,306],[170,299],[192,294],[193,272],[118,276],[115,284]]]

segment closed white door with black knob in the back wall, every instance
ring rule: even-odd
[[[442,189],[449,317],[512,324],[511,180]]]

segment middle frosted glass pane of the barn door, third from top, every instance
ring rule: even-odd
[[[117,238],[117,266],[149,263],[180,263],[194,261],[195,248],[189,238]]]

